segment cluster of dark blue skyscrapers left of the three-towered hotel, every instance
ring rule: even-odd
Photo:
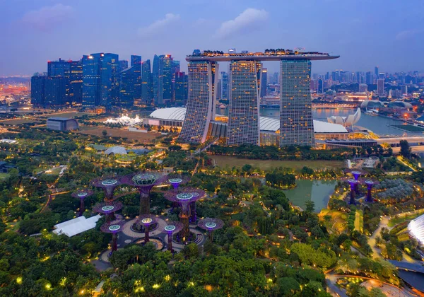
[[[95,53],[78,61],[47,63],[47,74],[31,78],[31,101],[34,105],[82,106],[84,108],[131,108],[144,105],[184,105],[187,100],[187,75],[171,55],[142,61],[131,55],[130,64],[118,54]]]

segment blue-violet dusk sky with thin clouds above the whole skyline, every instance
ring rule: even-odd
[[[424,71],[423,11],[423,0],[0,0],[0,76],[94,52],[172,54],[185,71],[194,49],[231,47],[341,55],[314,62],[313,73]]]

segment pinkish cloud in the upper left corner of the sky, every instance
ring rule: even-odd
[[[71,6],[56,4],[54,6],[44,6],[37,11],[28,11],[22,17],[22,21],[38,30],[49,31],[60,23],[67,21],[72,13],[73,8]]]

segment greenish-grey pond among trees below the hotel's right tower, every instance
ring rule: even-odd
[[[312,200],[315,203],[315,212],[319,212],[326,208],[336,184],[336,180],[296,180],[297,187],[284,192],[290,202],[302,209],[305,209],[307,201]]]

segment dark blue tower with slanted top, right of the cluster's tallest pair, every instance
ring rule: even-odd
[[[120,73],[119,106],[130,108],[137,97],[136,82],[139,77],[138,65],[135,64]]]

